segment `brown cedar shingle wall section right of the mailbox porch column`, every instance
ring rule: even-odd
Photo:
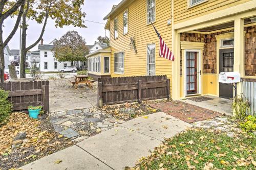
[[[245,31],[245,76],[256,76],[256,26]]]

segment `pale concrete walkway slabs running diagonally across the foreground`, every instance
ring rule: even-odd
[[[164,112],[138,117],[21,169],[123,169],[190,124]],[[59,164],[56,160],[62,160]]]

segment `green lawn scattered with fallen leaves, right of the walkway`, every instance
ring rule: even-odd
[[[255,146],[254,135],[242,133],[231,138],[211,130],[191,129],[167,139],[151,156],[127,169],[204,169],[212,165],[218,169],[254,169]]]

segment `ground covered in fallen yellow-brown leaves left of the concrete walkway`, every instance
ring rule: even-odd
[[[20,148],[11,149],[18,132],[26,132]],[[32,119],[26,113],[12,113],[0,127],[0,169],[10,169],[67,148],[73,142],[54,132],[48,118]]]

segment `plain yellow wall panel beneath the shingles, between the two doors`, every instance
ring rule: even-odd
[[[203,74],[203,94],[217,95],[217,74]]]

